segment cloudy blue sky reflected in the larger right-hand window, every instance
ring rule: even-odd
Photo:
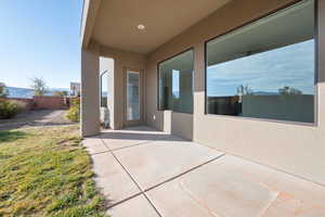
[[[240,85],[260,93],[277,93],[287,86],[313,94],[314,40],[208,67],[208,95],[234,95]]]

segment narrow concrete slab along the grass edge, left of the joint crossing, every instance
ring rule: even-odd
[[[108,206],[140,193],[139,188],[122,169],[112,153],[91,155],[95,182]]]

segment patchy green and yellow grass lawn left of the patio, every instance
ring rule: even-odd
[[[0,131],[0,216],[104,216],[78,127]]]

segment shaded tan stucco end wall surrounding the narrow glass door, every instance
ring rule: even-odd
[[[114,60],[114,108],[109,111],[114,114],[114,117],[112,117],[110,127],[113,129],[120,129],[125,125],[126,68],[139,69],[144,73],[146,56],[107,47],[101,47],[100,55]],[[143,89],[143,94],[144,93],[145,90]],[[145,118],[143,118],[143,123],[145,123]]]

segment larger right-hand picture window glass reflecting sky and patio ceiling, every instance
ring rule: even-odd
[[[314,123],[314,1],[206,43],[206,113]]]

